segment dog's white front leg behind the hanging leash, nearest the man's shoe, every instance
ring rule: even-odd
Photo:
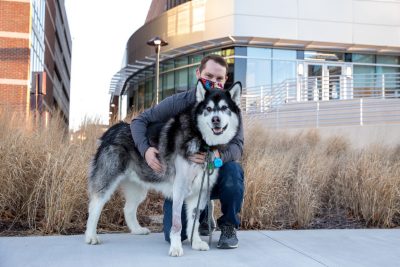
[[[196,216],[198,197],[199,197],[198,194],[193,194],[190,198],[187,198],[185,201],[186,214],[187,214],[187,218],[188,218],[186,234],[187,234],[189,240],[192,236],[193,221]],[[201,197],[200,197],[200,204],[199,204],[200,211],[204,209],[204,207],[206,206],[206,202],[207,202],[207,191],[203,191],[203,192],[201,192]],[[199,235],[200,211],[199,211],[199,214],[198,214],[198,217],[196,220],[196,224],[194,226],[192,248],[195,250],[209,250],[210,247],[208,246],[207,242],[204,242],[203,240],[201,240],[200,235]]]

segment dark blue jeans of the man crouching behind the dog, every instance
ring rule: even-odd
[[[211,191],[211,199],[219,199],[221,202],[222,216],[217,220],[218,225],[233,224],[239,227],[240,220],[238,213],[242,207],[244,193],[244,174],[239,163],[230,161],[225,163],[220,169],[218,179]],[[205,209],[200,218],[207,216]],[[164,237],[170,242],[169,233],[172,227],[172,200],[164,201]],[[182,208],[182,241],[186,236],[186,209]]]

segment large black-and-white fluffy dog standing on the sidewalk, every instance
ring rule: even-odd
[[[154,172],[140,155],[129,124],[120,122],[109,128],[99,140],[89,169],[86,243],[100,243],[96,233],[100,213],[118,187],[125,196],[124,216],[131,233],[149,234],[147,228],[139,225],[136,211],[147,191],[153,189],[173,201],[169,255],[182,256],[182,205],[186,204],[186,233],[190,238],[199,193],[200,210],[205,208],[207,202],[207,189],[200,189],[205,165],[194,163],[188,157],[207,151],[207,147],[222,148],[235,137],[241,123],[241,89],[240,82],[228,90],[206,90],[200,80],[197,82],[196,104],[170,119],[159,134],[158,157],[165,166],[162,173]],[[209,177],[211,188],[217,176],[218,169],[215,169]],[[199,236],[198,221],[194,227],[192,248],[209,250],[208,244]]]

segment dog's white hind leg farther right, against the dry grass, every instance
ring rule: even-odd
[[[124,216],[126,224],[135,235],[147,235],[150,230],[141,227],[136,212],[139,204],[146,198],[147,190],[137,183],[131,181],[124,181],[121,183],[121,189],[125,196]]]

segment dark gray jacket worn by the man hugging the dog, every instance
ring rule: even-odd
[[[147,127],[150,123],[167,122],[189,106],[196,103],[196,89],[178,93],[167,97],[158,105],[146,109],[131,122],[131,133],[133,141],[140,154],[144,158],[146,150],[150,147],[146,137]],[[240,161],[243,154],[243,125],[240,121],[238,134],[229,144],[220,151],[224,162]]]

